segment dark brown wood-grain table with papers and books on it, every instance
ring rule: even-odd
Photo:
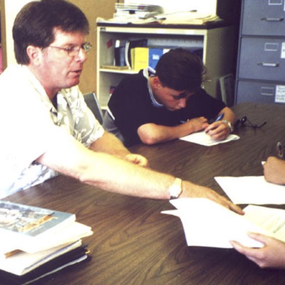
[[[276,141],[285,142],[285,106],[243,103],[234,110],[238,118],[246,115],[253,124],[267,124],[240,127],[235,130],[239,140],[210,148],[175,140],[131,151],[145,155],[156,170],[223,194],[214,176],[262,175],[260,162],[275,155]],[[63,176],[7,199],[74,212],[94,230],[84,239],[92,259],[45,284],[285,283],[285,270],[260,269],[233,249],[187,247],[180,220],[160,213],[173,208],[168,201],[113,194]]]

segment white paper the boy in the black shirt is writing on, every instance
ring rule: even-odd
[[[186,136],[180,137],[182,140],[186,140],[189,142],[194,142],[194,144],[199,144],[202,146],[210,147],[219,144],[224,144],[225,142],[239,139],[240,137],[236,134],[229,134],[226,139],[223,140],[216,140],[212,139],[205,131],[193,132]]]

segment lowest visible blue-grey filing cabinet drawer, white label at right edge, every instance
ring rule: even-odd
[[[242,102],[258,102],[266,104],[285,103],[285,82],[265,83],[239,81],[237,88],[237,104]]]

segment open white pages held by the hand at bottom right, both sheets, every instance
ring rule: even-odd
[[[162,211],[181,219],[188,246],[232,248],[235,240],[244,246],[262,247],[247,235],[257,232],[285,241],[285,210],[249,205],[239,215],[206,198],[170,201],[177,209]]]

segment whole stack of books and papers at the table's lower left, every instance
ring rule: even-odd
[[[0,201],[0,278],[28,284],[89,259],[81,239],[93,234],[72,213]]]

